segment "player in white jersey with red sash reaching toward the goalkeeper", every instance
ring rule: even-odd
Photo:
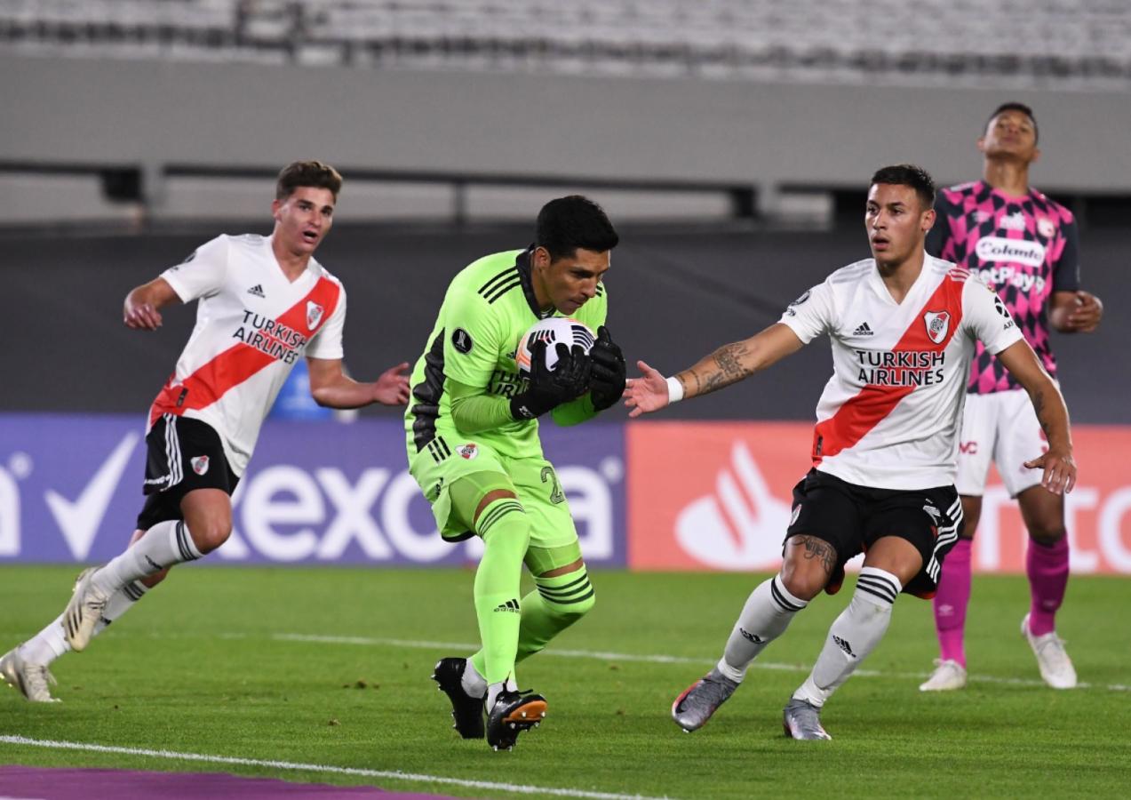
[[[671,378],[639,362],[630,416],[753,375],[822,334],[832,377],[817,405],[813,468],[794,488],[782,570],[746,600],[723,657],[672,705],[683,730],[701,728],[750,663],[821,590],[840,588],[845,561],[864,552],[856,590],[832,622],[809,678],[785,707],[794,739],[829,739],[820,711],[883,638],[900,592],[930,597],[961,528],[957,436],[975,342],[1025,387],[1048,437],[1027,462],[1047,491],[1076,482],[1068,410],[1056,385],[993,291],[932,258],[934,183],[921,167],[872,177],[864,225],[872,258],[832,273],[780,321],[725,345]]]

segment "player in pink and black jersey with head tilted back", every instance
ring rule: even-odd
[[[939,221],[927,234],[927,252],[966,267],[995,289],[1055,378],[1050,325],[1061,333],[1088,333],[1103,316],[1098,298],[1080,289],[1076,220],[1069,209],[1029,186],[1029,166],[1041,150],[1037,123],[1027,105],[998,107],[978,139],[978,149],[983,178],[940,192]],[[940,657],[920,688],[946,691],[966,686],[970,551],[993,461],[1029,531],[1026,573],[1031,603],[1021,633],[1045,682],[1070,689],[1076,686],[1076,669],[1055,630],[1069,574],[1064,499],[1043,491],[1033,471],[1022,466],[1033,451],[1044,447],[1041,424],[1018,382],[981,345],[967,390],[956,481],[966,526],[947,559],[934,597]]]

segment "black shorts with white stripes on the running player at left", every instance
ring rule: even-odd
[[[148,531],[167,519],[183,519],[181,499],[193,489],[221,489],[228,496],[240,482],[211,425],[163,414],[145,438],[145,488],[148,496],[138,527]]]

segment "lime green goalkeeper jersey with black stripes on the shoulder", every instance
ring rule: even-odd
[[[572,318],[594,332],[605,324],[605,287]],[[464,267],[444,294],[443,304],[424,353],[412,375],[412,399],[405,412],[408,459],[437,437],[474,439],[510,458],[541,458],[538,421],[508,422],[473,435],[459,431],[451,419],[447,381],[482,387],[492,397],[509,401],[526,390],[527,379],[515,361],[523,335],[543,313],[530,284],[530,250],[508,250]]]

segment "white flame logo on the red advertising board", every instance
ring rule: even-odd
[[[689,556],[716,569],[772,568],[782,560],[789,504],[770,493],[750,449],[736,441],[714,494],[693,500],[675,519],[675,537]]]

